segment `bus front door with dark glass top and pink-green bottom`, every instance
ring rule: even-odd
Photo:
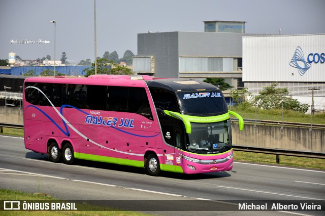
[[[183,136],[181,129],[174,125],[161,125],[165,142],[169,145],[165,145],[163,148],[164,154],[161,164],[163,164],[164,170],[176,171],[176,168],[181,168],[181,158],[178,153],[181,153],[183,145]],[[176,167],[181,166],[181,167]]]

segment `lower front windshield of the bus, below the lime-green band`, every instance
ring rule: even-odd
[[[204,151],[211,154],[224,152],[232,147],[229,119],[213,123],[191,122],[191,133],[187,136],[189,143],[186,148],[191,152],[198,150],[200,153]]]

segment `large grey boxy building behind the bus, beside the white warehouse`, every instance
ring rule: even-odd
[[[238,25],[237,22],[235,24]],[[224,78],[234,88],[243,88],[242,37],[252,35],[261,34],[179,31],[140,33],[138,56],[133,58],[133,71],[154,77],[199,80],[206,77]]]

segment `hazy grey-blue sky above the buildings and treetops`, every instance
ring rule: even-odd
[[[245,21],[246,33],[325,33],[324,11],[325,0],[96,0],[96,52],[137,55],[139,33],[204,32],[213,20]],[[53,60],[54,41],[56,60],[94,61],[94,0],[0,0],[0,59]]]

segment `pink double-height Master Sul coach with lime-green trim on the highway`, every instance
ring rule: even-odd
[[[230,114],[221,91],[191,79],[146,75],[29,77],[25,148],[75,158],[199,174],[231,170]]]

